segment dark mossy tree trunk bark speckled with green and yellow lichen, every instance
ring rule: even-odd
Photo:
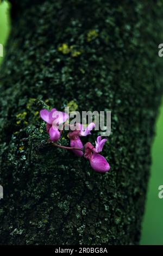
[[[1,245],[139,243],[162,93],[162,1],[10,2],[0,85]],[[67,104],[112,112],[103,151],[109,173],[42,145],[48,136],[38,112]],[[60,143],[68,145],[66,135]]]

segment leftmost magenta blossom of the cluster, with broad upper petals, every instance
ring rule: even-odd
[[[40,117],[47,123],[46,130],[49,133],[51,141],[58,141],[58,139],[60,139],[59,125],[65,123],[65,121],[68,119],[68,114],[57,111],[55,108],[53,108],[51,111],[42,109],[40,111]]]

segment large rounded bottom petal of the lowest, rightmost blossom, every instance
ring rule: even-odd
[[[109,163],[106,161],[105,157],[97,153],[92,155],[90,164],[96,172],[105,173],[110,169]]]

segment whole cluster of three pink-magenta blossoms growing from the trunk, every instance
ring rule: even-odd
[[[68,114],[57,111],[55,108],[53,108],[51,111],[42,109],[40,111],[40,117],[47,123],[46,130],[51,141],[53,143],[57,142],[60,139],[62,132],[62,130],[59,129],[59,125],[63,125],[65,123],[65,121],[69,118]],[[107,140],[102,139],[101,136],[98,136],[96,147],[93,147],[90,142],[83,145],[80,139],[80,137],[91,135],[93,128],[95,128],[94,123],[90,123],[86,129],[84,129],[83,125],[79,123],[77,123],[76,126],[69,125],[70,132],[68,133],[68,137],[70,138],[70,147],[54,144],[56,147],[72,150],[73,153],[78,157],[84,156],[85,159],[89,160],[92,169],[94,169],[96,172],[105,173],[108,172],[110,166],[105,157],[99,153],[102,152],[103,146]]]

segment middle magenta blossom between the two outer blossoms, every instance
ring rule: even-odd
[[[71,127],[71,125],[70,125]],[[73,130],[68,133],[69,137],[70,137],[70,146],[71,148],[83,148],[83,143],[81,141],[81,139],[79,138],[79,136],[87,136],[91,134],[92,129],[95,127],[94,123],[90,123],[86,129],[84,129],[82,124],[77,123],[75,126],[75,130],[74,130],[74,126],[73,126]],[[80,150],[76,150],[73,149],[72,150],[74,154],[76,154],[79,157],[83,156],[83,151]]]

